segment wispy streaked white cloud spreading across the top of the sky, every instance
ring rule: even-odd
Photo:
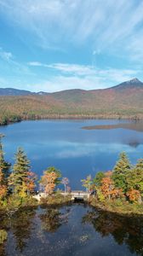
[[[120,0],[0,0],[1,13],[45,48],[89,44],[100,52],[143,56],[143,2]],[[80,10],[80,11],[79,11]],[[97,54],[93,50],[93,54]]]

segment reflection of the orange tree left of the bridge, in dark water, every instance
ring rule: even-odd
[[[68,220],[68,210],[61,213],[57,208],[47,208],[45,212],[40,215],[42,221],[42,229],[48,232],[55,232]]]

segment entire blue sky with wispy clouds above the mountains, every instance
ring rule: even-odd
[[[143,1],[0,0],[0,87],[106,88],[142,60]]]

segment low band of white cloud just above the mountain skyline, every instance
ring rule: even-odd
[[[5,53],[5,51],[3,51]],[[6,52],[7,53],[7,52]],[[7,59],[4,61],[7,62]],[[31,91],[48,91],[83,89],[95,90],[111,87],[126,80],[140,76],[140,69],[100,69],[89,65],[71,63],[42,63],[30,61],[27,65],[18,63],[9,56],[8,65],[11,73],[7,79],[1,75],[1,86],[25,88]],[[3,66],[2,66],[3,67]],[[37,69],[40,67],[40,74]],[[43,71],[41,68],[43,67]],[[9,67],[8,67],[9,69]],[[47,69],[47,72],[46,70]],[[1,70],[2,71],[2,70]],[[54,72],[51,72],[54,71]],[[41,73],[42,72],[42,73]]]

